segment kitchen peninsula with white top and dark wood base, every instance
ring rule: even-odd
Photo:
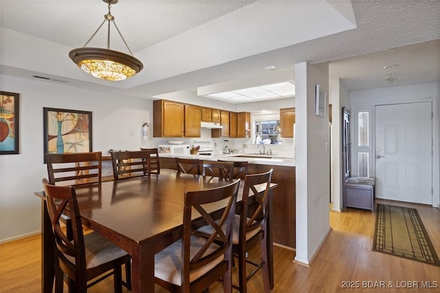
[[[296,169],[292,158],[281,155],[254,155],[250,153],[212,154],[212,155],[170,155],[160,153],[161,169],[177,169],[175,157],[199,160],[228,160],[230,162],[248,161],[250,174],[263,173],[274,169],[272,182],[277,183],[273,197],[273,239],[274,244],[295,248],[296,234]]]

